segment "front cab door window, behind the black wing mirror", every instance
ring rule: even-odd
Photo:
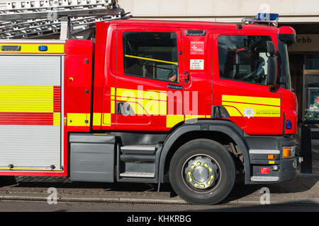
[[[220,78],[266,85],[269,36],[220,35],[218,61]]]

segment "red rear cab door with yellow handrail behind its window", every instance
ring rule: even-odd
[[[181,30],[120,27],[117,40],[116,130],[168,131],[184,121]]]

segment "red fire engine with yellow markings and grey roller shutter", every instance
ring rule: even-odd
[[[272,16],[272,15],[271,15]],[[93,40],[1,40],[0,174],[164,183],[214,204],[296,176],[292,28],[112,20]]]

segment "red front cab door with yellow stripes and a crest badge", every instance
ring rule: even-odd
[[[276,35],[247,29],[213,30],[213,105],[250,135],[279,135],[281,93],[267,86],[266,42]]]

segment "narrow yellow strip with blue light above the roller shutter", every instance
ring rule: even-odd
[[[43,53],[43,54],[63,54],[65,52],[65,44],[6,44],[4,46],[21,46],[21,51],[2,51],[0,53]],[[39,51],[39,46],[47,46],[47,51]]]

